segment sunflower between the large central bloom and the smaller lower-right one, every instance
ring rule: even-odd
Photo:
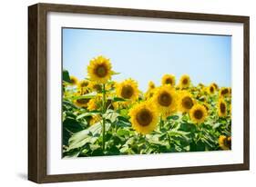
[[[189,110],[194,105],[194,100],[192,98],[192,95],[189,94],[187,91],[182,91],[179,93],[179,111],[182,113],[189,112]]]

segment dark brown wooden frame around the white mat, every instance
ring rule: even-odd
[[[92,15],[125,15],[183,20],[217,21],[243,24],[244,68],[244,149],[243,163],[197,167],[150,169],[122,172],[90,172],[47,175],[46,173],[46,15],[62,12]],[[195,13],[138,10],[83,5],[36,4],[28,7],[28,180],[43,182],[72,182],[83,180],[145,177],[200,172],[249,170],[250,167],[250,75],[249,75],[250,18],[238,15],[208,15]]]

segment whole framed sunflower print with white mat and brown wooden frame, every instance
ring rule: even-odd
[[[28,179],[249,170],[249,17],[28,7]]]

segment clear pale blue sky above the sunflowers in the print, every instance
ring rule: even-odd
[[[113,80],[133,78],[145,91],[148,81],[160,84],[163,74],[177,82],[189,74],[192,84],[231,84],[231,36],[161,34],[63,28],[63,68],[83,79],[97,55],[110,58]]]

